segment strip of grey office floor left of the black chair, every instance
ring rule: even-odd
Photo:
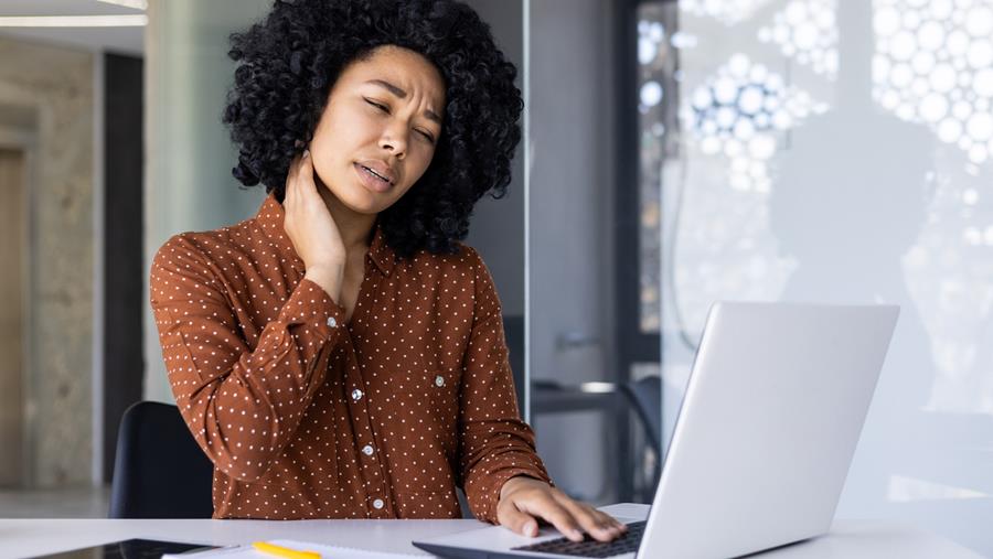
[[[0,490],[0,518],[106,518],[109,487]]]

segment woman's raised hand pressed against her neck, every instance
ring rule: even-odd
[[[318,193],[309,151],[293,158],[286,176],[282,228],[293,244],[305,278],[322,287],[337,302],[344,278],[345,248],[341,232]]]

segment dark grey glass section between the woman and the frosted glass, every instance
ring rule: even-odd
[[[658,184],[618,172],[619,6],[524,12],[528,411],[556,483],[597,503],[647,501],[658,463],[622,390],[659,374],[660,222]]]

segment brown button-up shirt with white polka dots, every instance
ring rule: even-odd
[[[214,463],[215,518],[496,520],[503,482],[549,481],[521,420],[479,255],[396,260],[376,229],[352,319],[270,195],[157,252],[151,307],[180,412]]]

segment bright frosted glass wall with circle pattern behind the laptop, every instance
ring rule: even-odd
[[[993,3],[682,0],[637,20],[666,436],[714,301],[899,304],[837,514],[993,553]]]

